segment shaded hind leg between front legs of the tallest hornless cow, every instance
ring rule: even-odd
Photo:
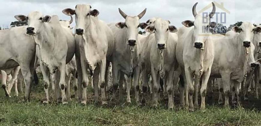
[[[99,102],[99,93],[98,93],[99,74],[100,74],[100,66],[97,66],[93,72],[93,78],[92,78],[93,87],[94,87],[94,101],[96,104]],[[84,89],[84,91],[85,90],[86,89]],[[85,95],[83,95],[83,97],[85,97]]]

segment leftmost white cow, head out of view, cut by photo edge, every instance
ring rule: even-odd
[[[35,72],[35,43],[33,38],[26,35],[26,26],[14,27],[0,31],[0,70],[7,74],[14,67],[20,65],[22,75],[25,81],[25,101],[30,100],[30,85],[38,83]],[[3,79],[7,76],[3,72]],[[35,82],[34,82],[35,80]],[[6,96],[10,97],[7,86],[2,83]]]

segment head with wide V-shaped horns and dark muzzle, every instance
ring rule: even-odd
[[[146,9],[143,10],[138,16],[128,16],[120,8],[119,13],[125,19],[125,22],[116,23],[116,27],[120,29],[127,29],[127,44],[129,46],[135,46],[136,41],[138,40],[139,27],[144,29],[147,26],[146,23],[140,23],[140,19],[146,13]]]

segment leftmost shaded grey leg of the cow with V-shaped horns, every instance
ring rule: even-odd
[[[119,87],[119,81],[118,81],[118,68],[116,66],[116,63],[112,64],[112,72],[113,72],[113,96],[112,100],[116,101],[116,91]]]

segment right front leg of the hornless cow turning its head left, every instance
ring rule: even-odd
[[[62,104],[68,104],[67,102],[67,98],[65,95],[65,87],[66,87],[66,83],[65,83],[65,72],[66,69],[66,64],[62,64],[60,69],[58,71],[60,71],[60,81],[59,81],[59,87],[61,89],[61,97],[62,97]]]

